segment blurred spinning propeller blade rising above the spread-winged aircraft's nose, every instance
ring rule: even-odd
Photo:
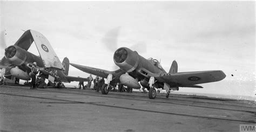
[[[119,36],[120,27],[116,27],[109,32],[107,32],[102,39],[103,43],[106,45],[107,49],[111,52],[117,50],[117,38]]]

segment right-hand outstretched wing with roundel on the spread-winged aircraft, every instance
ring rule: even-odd
[[[152,74],[150,76],[156,78],[159,82],[166,82],[170,86],[194,88],[203,88],[201,86],[197,86],[197,84],[220,81],[226,77],[223,71],[181,72],[174,74],[165,73]]]

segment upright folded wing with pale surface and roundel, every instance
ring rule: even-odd
[[[62,63],[43,34],[33,30],[30,30],[30,32],[33,40],[35,41],[37,50],[43,60],[44,66],[64,70]]]

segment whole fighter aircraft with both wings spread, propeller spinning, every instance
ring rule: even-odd
[[[178,64],[175,60],[167,73],[158,60],[145,59],[127,47],[118,48],[114,52],[113,60],[120,69],[112,72],[77,64],[70,63],[70,65],[86,73],[106,78],[107,84],[102,86],[102,94],[107,94],[111,85],[120,82],[120,84],[135,89],[139,89],[142,85],[149,89],[150,99],[156,98],[155,88],[164,88],[167,92],[166,98],[169,98],[171,90],[178,91],[179,87],[203,88],[197,84],[220,81],[226,77],[223,71],[178,73]]]

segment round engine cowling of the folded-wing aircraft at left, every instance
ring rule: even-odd
[[[11,62],[11,64],[20,66],[24,64],[24,62],[26,61],[27,51],[16,45],[12,45],[8,48],[5,48],[4,55],[6,59],[8,59],[8,61]]]

